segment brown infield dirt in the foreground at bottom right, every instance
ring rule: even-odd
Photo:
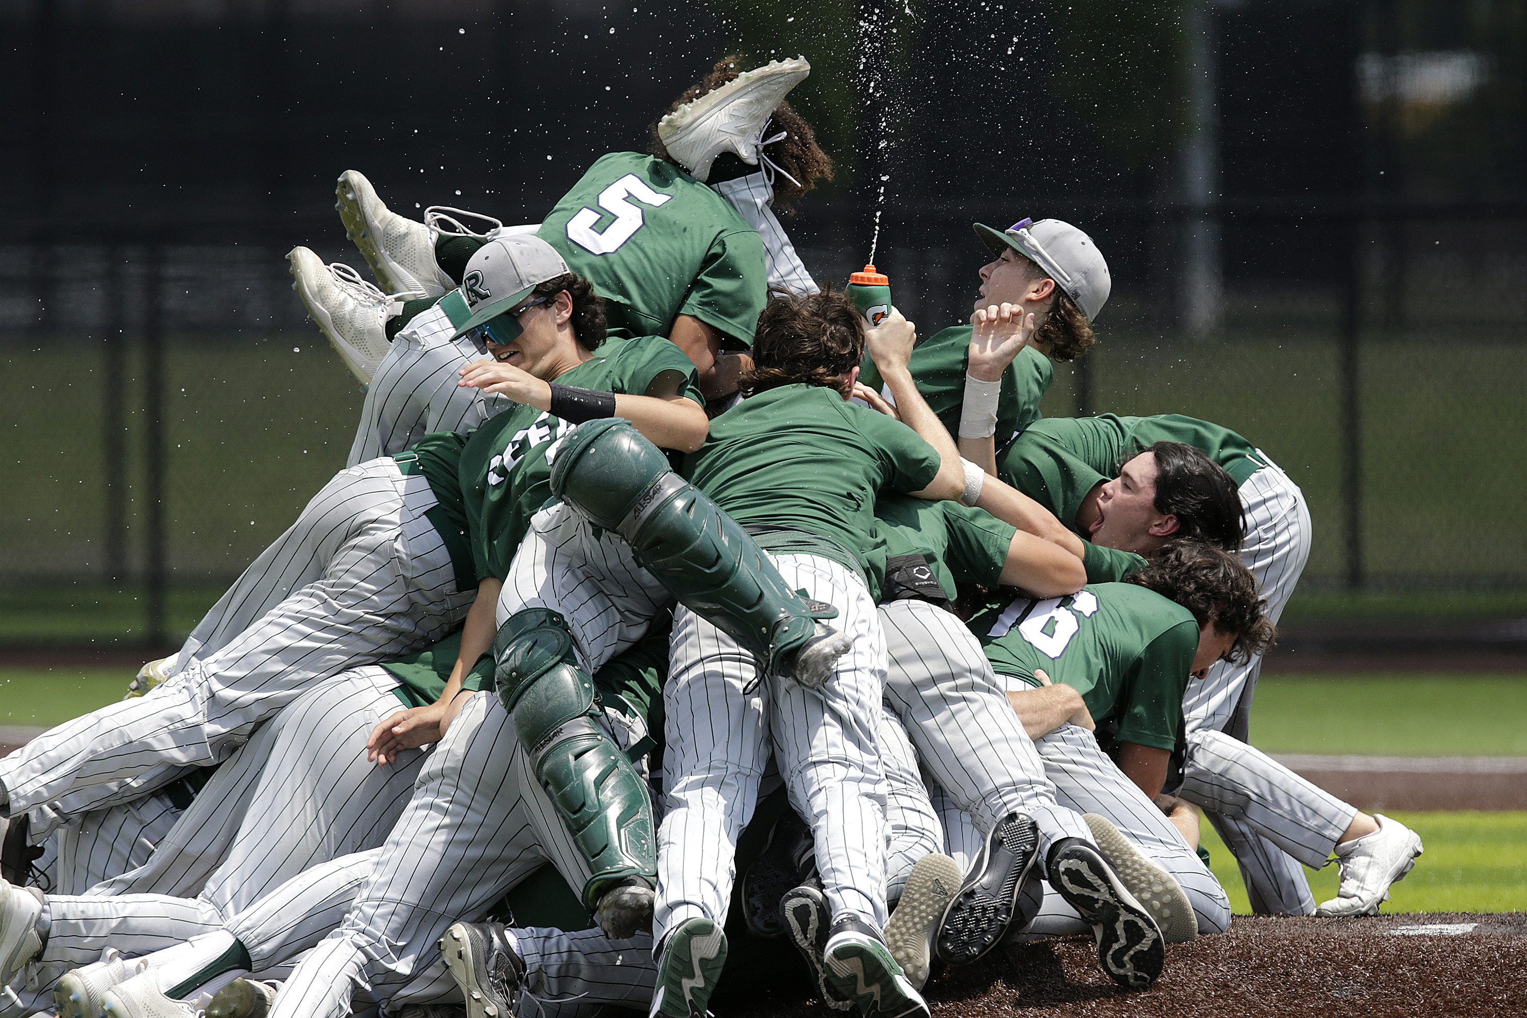
[[[1455,936],[1393,933],[1454,923],[1475,928]],[[738,975],[733,986],[718,987],[712,1009],[719,1018],[841,1013],[814,1000],[794,955]],[[1098,968],[1092,940],[1067,937],[999,948],[936,975],[927,997],[933,1013],[948,1018],[1527,1015],[1527,914],[1237,916],[1229,933],[1168,945],[1167,969],[1145,991],[1116,986]]]

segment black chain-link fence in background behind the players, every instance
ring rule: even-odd
[[[791,98],[840,179],[786,226],[818,279],[866,259],[880,183],[876,263],[925,334],[970,313],[973,221],[1077,223],[1115,292],[1046,414],[1245,433],[1310,502],[1306,589],[1527,589],[1519,11],[1164,5],[1147,32],[971,3],[907,6],[870,118],[826,8],[0,0],[0,644],[173,636],[344,464],[362,394],[282,259],[362,266],[333,176],[530,221],[738,37],[815,64]]]

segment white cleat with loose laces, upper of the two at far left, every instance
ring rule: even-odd
[[[345,237],[354,241],[383,290],[426,298],[455,290],[455,281],[435,263],[438,229],[386,208],[371,182],[354,169],[339,174],[334,197]]]

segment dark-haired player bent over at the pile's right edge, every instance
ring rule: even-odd
[[[1309,557],[1310,516],[1299,488],[1264,452],[1208,421],[1044,418],[1003,450],[1000,467],[1003,479],[1096,545],[1153,554],[1174,537],[1202,536],[1238,548],[1274,621]],[[1241,520],[1245,540],[1237,540]],[[1177,794],[1209,812],[1241,864],[1257,911],[1376,911],[1388,884],[1420,855],[1420,838],[1393,820],[1358,812],[1246,745],[1260,670],[1261,655],[1222,661],[1190,688]],[[1289,804],[1289,812],[1275,818],[1284,807],[1272,803]],[[1333,849],[1344,885],[1316,910],[1298,864],[1321,867]]]

